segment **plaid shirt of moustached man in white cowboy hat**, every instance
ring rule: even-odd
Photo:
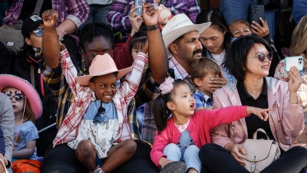
[[[175,79],[183,79],[190,85],[191,89],[194,88],[193,82],[191,81],[191,76],[174,57],[168,60],[168,67],[174,69]],[[154,123],[153,118],[152,104],[153,101],[146,103],[145,105],[144,121],[142,126],[142,139],[151,144],[153,144],[153,139],[156,131],[156,125]]]

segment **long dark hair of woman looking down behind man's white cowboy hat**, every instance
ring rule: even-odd
[[[201,11],[196,17],[196,24],[202,24],[206,22],[212,22],[210,26],[212,26],[214,29],[220,32],[225,32],[224,41],[223,41],[222,46],[225,49],[225,52],[227,54],[229,47],[231,45],[231,39],[233,36],[232,36],[232,33],[230,32],[230,29],[227,25],[227,22],[222,12],[216,7],[209,7]],[[204,51],[208,51],[205,47],[203,49]]]

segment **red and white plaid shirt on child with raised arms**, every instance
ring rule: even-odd
[[[127,73],[124,82],[121,84],[121,87],[118,88],[113,98],[119,120],[119,129],[115,137],[115,143],[132,138],[127,117],[127,107],[128,103],[137,92],[146,61],[146,55],[139,53],[137,59],[133,63],[133,69],[131,72]],[[53,141],[53,147],[76,139],[78,126],[83,115],[90,103],[96,100],[90,87],[84,87],[76,83],[77,68],[72,63],[67,50],[61,52],[61,66],[67,83],[72,93],[75,95],[75,99],[56,134]]]

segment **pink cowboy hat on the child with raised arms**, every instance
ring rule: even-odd
[[[113,58],[109,54],[97,55],[89,68],[89,75],[76,77],[76,81],[80,85],[89,86],[90,79],[94,76],[101,76],[113,72],[117,73],[117,79],[122,78],[125,74],[130,71],[132,66],[118,70]]]

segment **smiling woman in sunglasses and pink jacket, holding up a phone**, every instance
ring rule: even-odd
[[[253,139],[258,128],[264,129],[281,149],[280,158],[261,173],[305,173],[307,149],[293,147],[291,138],[304,128],[303,111],[297,97],[303,79],[296,67],[291,67],[288,83],[266,77],[271,51],[270,45],[254,34],[240,37],[230,46],[225,66],[237,80],[215,91],[212,109],[243,105],[272,110],[268,112],[268,121],[259,121],[256,115],[251,115],[213,128],[211,141],[214,144],[205,144],[199,153],[208,173],[249,173],[243,167],[246,152],[242,143]],[[265,139],[266,135],[260,133],[257,138]],[[221,160],[225,161],[222,167]]]

